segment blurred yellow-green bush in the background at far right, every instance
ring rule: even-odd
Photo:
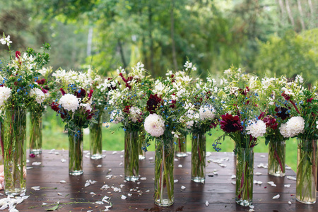
[[[283,37],[272,35],[267,42],[259,41],[259,54],[254,69],[260,75],[285,75],[288,78],[302,73],[307,83],[317,83],[317,36],[318,29],[307,30],[302,34],[290,30]]]

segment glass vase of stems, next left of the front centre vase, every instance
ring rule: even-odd
[[[127,181],[139,179],[139,131],[125,131],[124,172]]]

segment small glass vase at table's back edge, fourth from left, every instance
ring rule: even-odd
[[[96,121],[90,124],[90,158],[93,160],[102,158],[102,112],[98,113]]]

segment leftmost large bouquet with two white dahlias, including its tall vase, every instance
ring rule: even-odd
[[[45,51],[49,45],[43,45],[43,52],[36,53],[28,48],[26,52],[11,52],[10,36],[3,35],[2,45],[8,46],[9,60],[0,62],[0,108],[5,116],[1,148],[4,153],[5,193],[25,192],[26,149],[25,126],[26,110],[42,104],[45,99],[43,88],[37,83],[40,69],[49,61]],[[1,129],[2,130],[2,129]]]

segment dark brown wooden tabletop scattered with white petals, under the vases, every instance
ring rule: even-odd
[[[187,158],[178,158],[175,161],[175,204],[170,207],[158,207],[153,203],[153,152],[146,153],[146,160],[140,162],[140,175],[146,177],[138,182],[124,182],[123,152],[105,152],[102,160],[84,160],[84,174],[81,176],[69,176],[68,174],[68,151],[55,151],[59,154],[44,151],[42,156],[28,158],[30,162],[27,175],[28,199],[18,204],[19,211],[45,211],[59,202],[56,211],[102,211],[110,204],[94,204],[102,198],[110,196],[112,208],[110,211],[249,211],[249,207],[235,204],[235,185],[231,179],[235,175],[235,160],[232,153],[211,153],[207,157],[210,163],[206,167],[206,183],[200,184],[190,180],[191,155]],[[212,160],[226,159],[221,167]],[[61,162],[66,159],[66,162]],[[32,165],[33,162],[41,162],[41,165]],[[318,211],[318,204],[306,205],[295,201],[295,180],[287,177],[272,177],[267,175],[267,169],[257,167],[260,163],[267,163],[266,153],[255,153],[254,180],[263,182],[261,185],[254,184],[254,210],[255,211]],[[182,165],[182,167],[178,167]],[[216,175],[215,172],[218,172]],[[213,176],[213,177],[212,177]],[[286,176],[295,177],[293,170],[286,170]],[[85,187],[87,180],[97,181]],[[61,183],[65,180],[66,183]],[[276,187],[267,182],[273,181]],[[121,192],[114,189],[101,190],[103,185],[120,188]],[[284,187],[290,184],[290,187]],[[40,186],[35,191],[31,187]],[[186,187],[181,189],[181,187]],[[93,192],[93,193],[91,193]],[[3,191],[2,191],[3,193]],[[129,196],[129,194],[132,194]],[[280,194],[279,199],[273,196]],[[122,195],[126,199],[122,199]],[[206,206],[206,201],[209,205]],[[291,204],[288,204],[288,201]],[[43,203],[47,205],[42,206]]]

